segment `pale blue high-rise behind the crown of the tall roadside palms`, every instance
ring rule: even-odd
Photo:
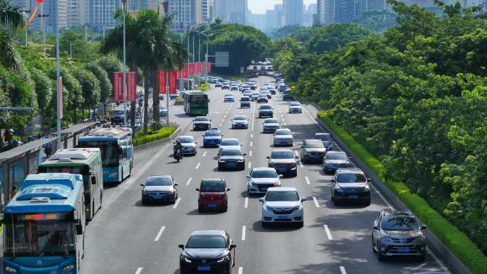
[[[88,5],[88,22],[93,31],[102,32],[103,27],[115,26],[115,11],[120,9],[122,1],[120,0],[89,0]],[[127,6],[128,10],[128,6]]]

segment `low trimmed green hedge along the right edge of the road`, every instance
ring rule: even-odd
[[[347,147],[374,172],[384,184],[406,205],[439,240],[463,262],[473,274],[487,274],[487,257],[464,233],[459,231],[446,218],[431,208],[419,195],[411,193],[402,182],[384,179],[385,168],[362,145],[353,139],[342,127],[331,120],[326,112],[319,112],[318,117],[332,130],[334,135],[345,142]]]

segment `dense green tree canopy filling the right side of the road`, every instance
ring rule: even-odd
[[[278,68],[295,95],[320,102],[381,160],[387,179],[404,182],[487,254],[485,15],[457,4],[440,17],[390,2],[397,26],[383,36],[321,55],[283,48]]]

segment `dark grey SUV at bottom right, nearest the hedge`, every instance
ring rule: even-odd
[[[411,211],[384,209],[379,213],[372,227],[372,250],[377,258],[392,256],[415,256],[424,260],[426,238]]]

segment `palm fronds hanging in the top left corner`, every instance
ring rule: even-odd
[[[23,11],[11,0],[0,0],[0,64],[10,70],[19,70],[21,59],[15,46],[17,41],[8,28],[21,28],[25,21]]]

